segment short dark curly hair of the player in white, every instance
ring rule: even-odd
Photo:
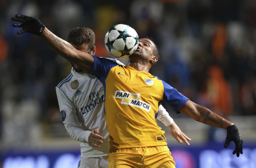
[[[77,27],[69,32],[67,42],[72,43],[75,46],[81,46],[86,43],[92,51],[95,46],[94,31],[87,27]]]

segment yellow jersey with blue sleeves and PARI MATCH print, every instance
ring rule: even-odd
[[[94,57],[95,75],[104,85],[110,152],[117,148],[167,145],[157,126],[159,103],[178,112],[188,98],[156,76]]]

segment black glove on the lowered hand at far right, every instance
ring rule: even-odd
[[[243,154],[243,140],[241,139],[238,128],[235,125],[230,125],[227,127],[227,137],[224,148],[227,148],[231,141],[235,142],[235,150],[233,151],[233,155],[236,153],[236,156],[239,157],[240,153]]]

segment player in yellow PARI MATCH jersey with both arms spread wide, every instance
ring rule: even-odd
[[[164,131],[157,126],[157,109],[165,104],[176,113],[196,121],[227,129],[226,142],[235,142],[233,154],[243,153],[243,141],[234,123],[222,118],[180,94],[175,88],[152,76],[149,70],[159,59],[155,43],[142,38],[127,66],[76,50],[57,37],[35,17],[16,15],[13,24],[24,32],[39,35],[55,52],[90,72],[103,83],[105,114],[110,137],[108,167],[174,168],[175,162],[166,144]]]

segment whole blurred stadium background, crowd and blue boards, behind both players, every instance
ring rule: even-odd
[[[223,148],[226,132],[168,109],[192,140],[179,144],[166,130],[177,168],[256,167],[255,0],[0,0],[0,167],[77,167],[79,142],[62,124],[55,86],[71,69],[38,36],[17,35],[11,17],[38,17],[66,39],[75,27],[96,33],[96,56],[111,57],[106,31],[129,24],[160,49],[151,74],[192,101],[234,122],[244,154]],[[126,63],[127,59],[121,59]]]

